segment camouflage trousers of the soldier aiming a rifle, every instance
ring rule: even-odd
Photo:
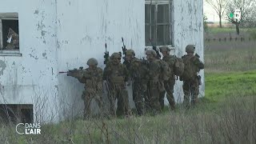
[[[102,114],[102,91],[96,91],[94,90],[94,92],[88,92],[86,90],[84,90],[82,92],[82,99],[84,101],[84,118],[89,118],[90,117],[90,104],[91,101],[94,99],[97,103],[98,103],[98,107],[99,107],[99,112],[100,114]]]

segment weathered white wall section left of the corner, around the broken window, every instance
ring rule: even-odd
[[[0,103],[34,104],[35,119],[56,115],[56,5],[54,0],[1,0],[0,13],[18,12],[21,57],[0,56]],[[43,105],[44,104],[44,105]],[[44,119],[42,119],[42,114]],[[49,120],[49,119],[48,119]]]

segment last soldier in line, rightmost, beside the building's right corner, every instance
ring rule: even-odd
[[[198,58],[198,54],[194,55],[195,47],[193,45],[186,46],[186,55],[182,56],[184,62],[184,72],[180,79],[183,81],[184,104],[189,107],[190,95],[191,104],[194,105],[198,101],[200,78],[198,72],[204,68],[204,64]]]

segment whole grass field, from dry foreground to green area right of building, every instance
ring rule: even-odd
[[[217,30],[218,31],[218,30]],[[255,143],[255,42],[206,42],[206,96],[155,117],[70,119],[18,135],[0,124],[0,143]]]

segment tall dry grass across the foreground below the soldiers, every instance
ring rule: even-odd
[[[43,125],[41,135],[18,135],[2,125],[0,143],[254,143],[256,98],[226,98],[217,110],[204,103],[156,117],[73,120]]]

